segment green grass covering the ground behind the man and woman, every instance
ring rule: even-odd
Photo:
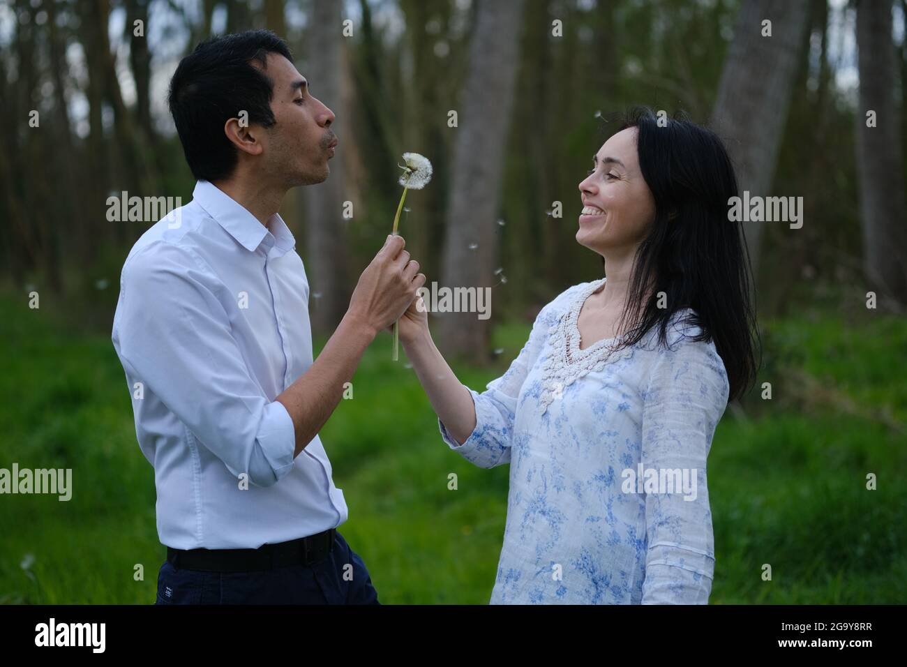
[[[907,602],[907,322],[763,327],[772,400],[728,410],[709,457],[711,602]],[[500,363],[457,368],[463,382],[500,375],[528,329],[500,328]],[[70,467],[74,489],[69,502],[0,495],[0,602],[153,602],[164,557],[153,473],[110,338],[5,297],[0,345],[0,467]],[[350,509],[340,530],[383,603],[487,603],[508,468],[449,451],[412,369],[389,351],[379,338],[322,432]],[[878,490],[866,490],[868,473]]]

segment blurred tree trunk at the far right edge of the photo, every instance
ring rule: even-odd
[[[907,303],[907,232],[900,110],[894,102],[897,66],[891,0],[862,0],[856,12],[860,105],[856,114],[857,166],[863,218],[863,262],[875,289]],[[875,127],[866,113],[875,112]]]

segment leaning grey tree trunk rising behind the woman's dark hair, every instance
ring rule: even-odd
[[[744,0],[718,84],[712,127],[727,142],[740,193],[767,196],[784,135],[809,4]],[[763,36],[763,21],[772,36]],[[789,193],[781,193],[789,194]],[[753,275],[765,222],[744,222]]]

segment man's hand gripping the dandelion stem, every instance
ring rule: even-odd
[[[370,329],[373,336],[403,315],[413,302],[417,289],[425,284],[419,262],[404,250],[402,236],[387,237],[375,259],[359,276],[349,301],[347,315]]]

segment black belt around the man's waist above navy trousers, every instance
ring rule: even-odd
[[[262,544],[258,549],[173,549],[167,560],[180,570],[258,572],[290,565],[312,565],[334,551],[336,528],[289,542]]]

